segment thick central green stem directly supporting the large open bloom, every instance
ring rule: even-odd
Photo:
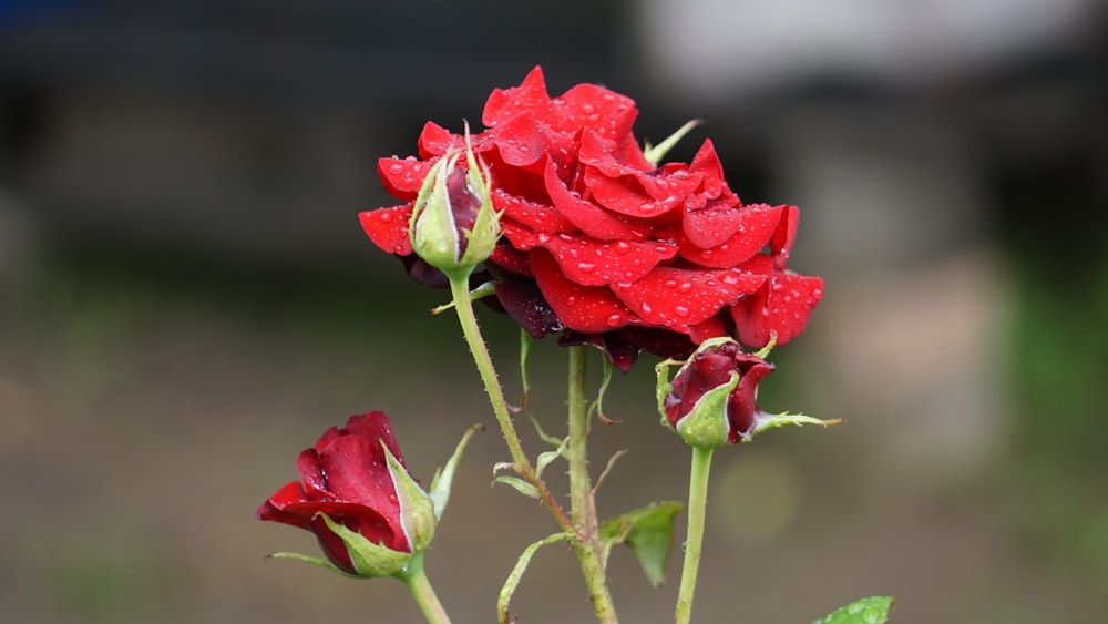
[[[588,475],[588,403],[585,399],[587,355],[586,347],[570,348],[570,442],[565,453],[570,462],[570,513],[578,538],[574,542],[574,552],[581,563],[596,618],[615,623],[618,618],[604,572],[604,549]]]

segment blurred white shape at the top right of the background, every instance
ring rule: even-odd
[[[738,96],[828,74],[902,86],[1057,47],[1095,0],[639,0],[647,64],[676,92]]]

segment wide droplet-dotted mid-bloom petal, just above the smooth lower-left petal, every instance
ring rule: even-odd
[[[583,286],[635,282],[677,255],[677,245],[671,243],[601,242],[568,234],[540,244],[554,255],[563,275]]]

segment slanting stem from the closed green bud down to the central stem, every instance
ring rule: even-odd
[[[573,522],[566,515],[562,505],[558,504],[557,499],[551,493],[546,483],[538,478],[534,466],[532,466],[531,460],[527,459],[526,453],[523,451],[520,434],[515,431],[512,415],[507,409],[507,401],[504,400],[504,390],[496,378],[496,369],[493,367],[489,348],[481,337],[478,317],[473,313],[473,300],[470,298],[469,290],[469,276],[458,274],[448,275],[448,277],[450,279],[450,293],[454,300],[454,310],[458,313],[458,323],[462,326],[465,342],[470,346],[470,351],[473,354],[473,362],[481,375],[481,381],[484,382],[485,393],[489,395],[489,402],[492,405],[492,411],[496,416],[496,423],[500,424],[504,441],[507,442],[507,450],[512,454],[515,471],[538,490],[540,499],[550,509],[562,529],[573,531]]]

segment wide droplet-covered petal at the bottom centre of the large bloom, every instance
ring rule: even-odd
[[[612,291],[650,325],[688,327],[755,293],[763,275],[730,270],[656,267],[632,284],[613,284]]]

